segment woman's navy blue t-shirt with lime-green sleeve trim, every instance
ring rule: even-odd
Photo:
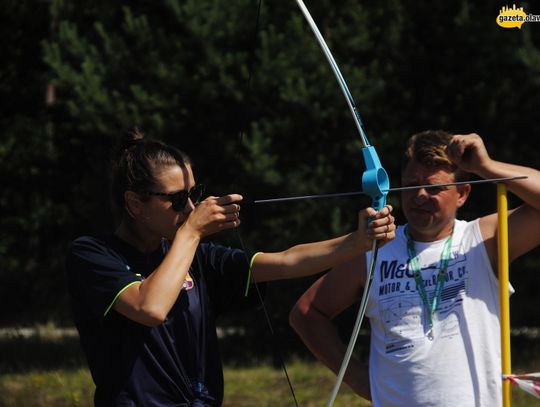
[[[253,306],[241,250],[200,244],[176,303],[157,327],[113,309],[121,292],[152,273],[170,248],[141,253],[115,236],[80,237],[67,257],[75,325],[96,384],[96,406],[219,406],[223,372],[215,318]],[[252,292],[254,290],[251,290]]]

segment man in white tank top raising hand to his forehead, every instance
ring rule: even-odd
[[[412,136],[403,186],[527,176],[508,182],[510,261],[540,243],[540,172],[490,158],[477,134]],[[501,401],[497,214],[456,219],[470,184],[402,192],[408,224],[379,250],[366,316],[369,368],[351,360],[344,380],[375,406],[484,406]],[[369,254],[338,266],[298,300],[290,322],[334,372],[346,350],[332,318],[357,301]]]

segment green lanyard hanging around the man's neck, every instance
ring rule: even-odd
[[[407,251],[409,252],[409,257],[411,258],[411,268],[414,272],[414,281],[416,281],[416,286],[418,287],[418,292],[420,297],[428,311],[428,337],[433,339],[433,320],[435,316],[435,311],[441,302],[441,294],[444,287],[444,282],[446,281],[446,270],[448,268],[448,261],[450,260],[450,254],[452,252],[452,237],[454,231],[446,242],[444,242],[444,247],[441,253],[441,260],[439,263],[439,273],[437,274],[437,285],[435,286],[435,293],[433,294],[432,301],[429,301],[429,298],[426,293],[426,288],[424,287],[424,280],[422,279],[422,274],[420,273],[420,263],[418,263],[418,254],[414,248],[414,242],[409,233],[408,226],[405,228],[405,234],[407,235]]]

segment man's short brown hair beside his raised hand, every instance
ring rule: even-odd
[[[402,170],[411,161],[428,167],[446,167],[454,174],[457,182],[468,181],[469,173],[460,170],[446,153],[452,134],[444,130],[426,130],[413,134],[407,142],[402,160]]]

